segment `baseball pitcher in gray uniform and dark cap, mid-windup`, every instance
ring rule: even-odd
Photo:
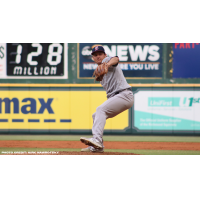
[[[102,46],[92,49],[92,59],[98,64],[93,76],[100,81],[107,93],[107,101],[100,105],[92,115],[92,138],[81,137],[80,141],[88,145],[82,152],[104,152],[103,131],[106,119],[115,117],[121,112],[131,108],[134,96],[131,86],[127,83],[121,68],[118,66],[119,58],[107,57]]]

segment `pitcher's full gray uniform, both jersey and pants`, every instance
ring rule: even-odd
[[[104,58],[102,63],[108,63],[111,58]],[[131,91],[131,86],[127,83],[118,64],[109,67],[108,73],[104,75],[101,81],[101,85],[106,90],[108,99],[92,115],[92,134],[95,139],[103,144],[102,137],[106,119],[115,117],[121,112],[131,108],[133,106],[134,96]]]

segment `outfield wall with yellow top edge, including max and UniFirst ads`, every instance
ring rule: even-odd
[[[200,135],[200,84],[131,84],[134,106],[108,119],[105,134]],[[1,134],[90,134],[106,101],[101,85],[2,84]]]

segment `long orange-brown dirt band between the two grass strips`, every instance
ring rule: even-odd
[[[193,150],[200,151],[198,142],[104,142],[105,149]],[[1,140],[0,147],[10,148],[85,148],[80,141]],[[72,153],[72,152],[70,152]],[[76,153],[77,154],[77,153]],[[113,153],[112,153],[113,154]]]

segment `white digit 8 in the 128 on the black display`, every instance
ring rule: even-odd
[[[57,51],[54,52],[53,49],[57,47]],[[58,65],[60,62],[61,62],[61,54],[62,54],[62,45],[61,44],[51,44],[49,45],[49,54],[47,56],[47,62],[50,64],[50,65]],[[53,61],[53,57],[56,57],[56,60]]]

